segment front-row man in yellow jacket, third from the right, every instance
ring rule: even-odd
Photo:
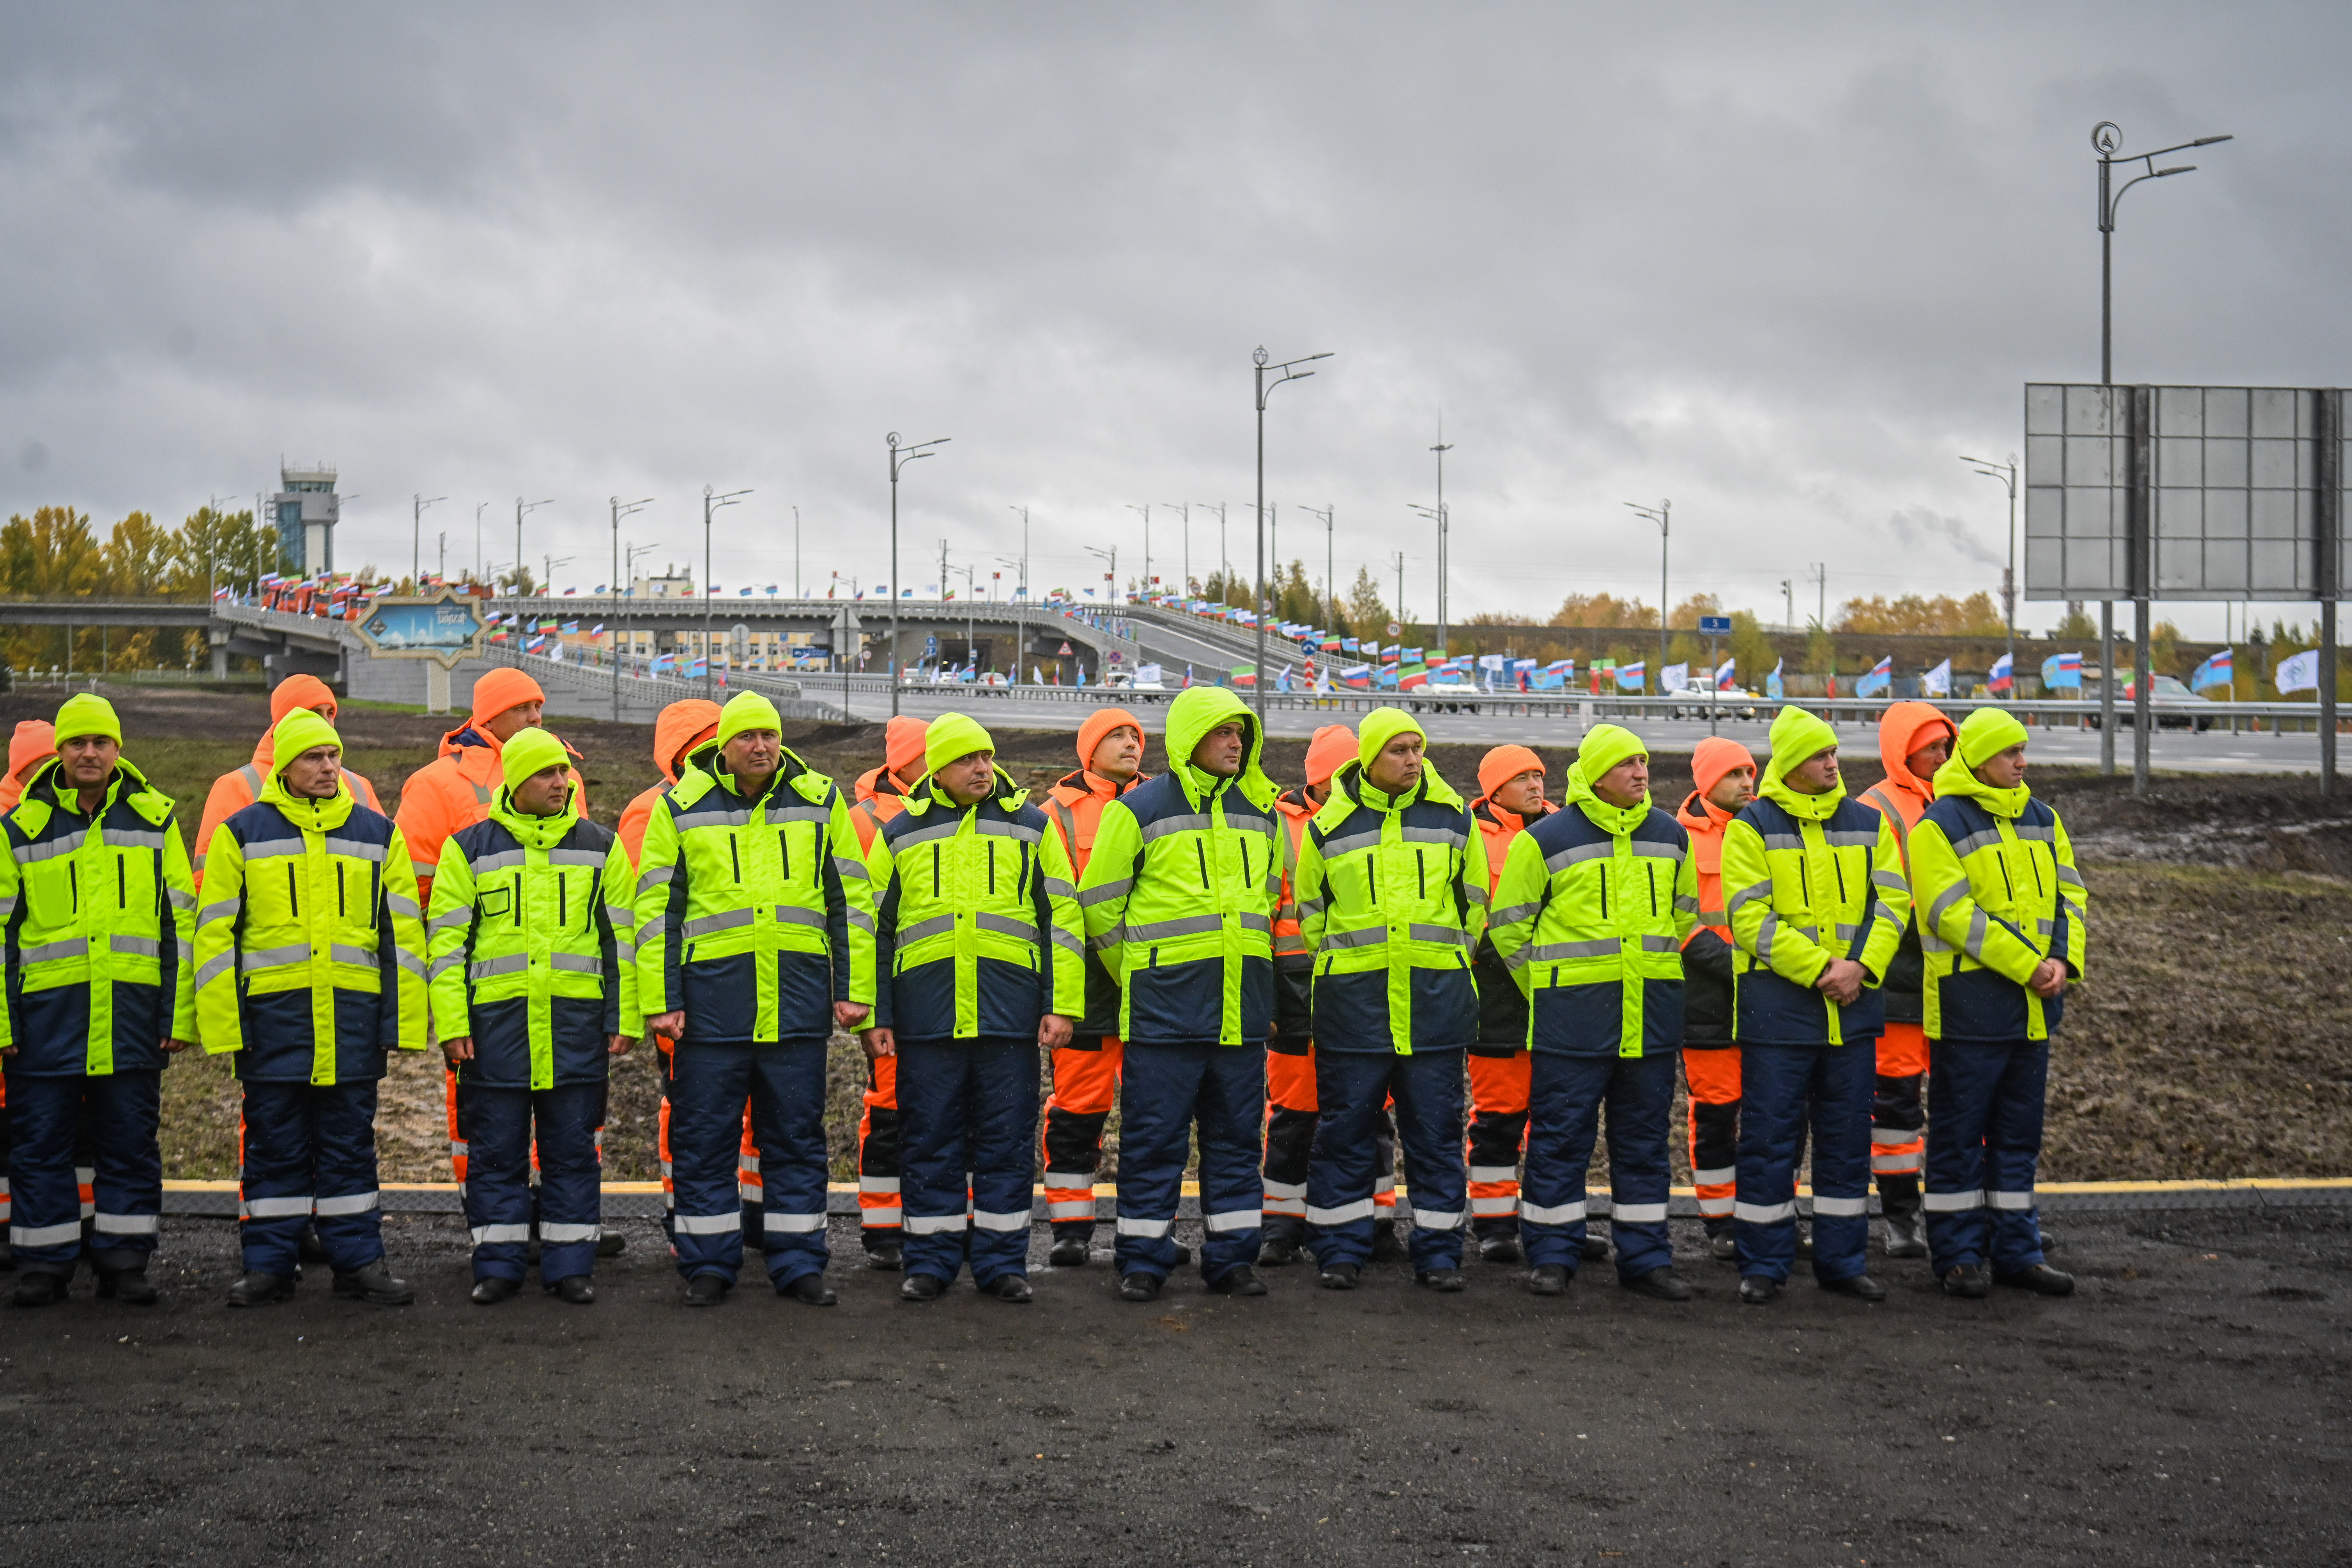
[[[1649,750],[1595,724],[1569,769],[1569,804],[1510,846],[1494,950],[1529,999],[1526,1232],[1536,1295],[1566,1291],[1585,1241],[1585,1171],[1609,1107],[1609,1232],[1618,1284],[1691,1300],[1665,1229],[1682,1048],[1682,938],[1698,875],[1672,816],[1649,804]]]

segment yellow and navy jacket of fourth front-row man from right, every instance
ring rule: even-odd
[[[1402,797],[1376,790],[1362,762],[1331,776],[1298,856],[1298,914],[1317,1051],[1411,1056],[1477,1039],[1486,839],[1437,769]]]

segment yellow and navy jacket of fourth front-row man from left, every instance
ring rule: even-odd
[[[875,999],[873,879],[849,802],[790,750],[743,799],[717,745],[644,827],[637,1006],[684,1011],[684,1044],[826,1039],[833,1001]]]

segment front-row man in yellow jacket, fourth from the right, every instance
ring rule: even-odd
[[[1463,1053],[1477,1039],[1470,954],[1486,931],[1486,849],[1425,745],[1404,710],[1367,712],[1298,863],[1322,1107],[1308,1239],[1327,1291],[1352,1291],[1371,1260],[1374,1131],[1390,1098],[1414,1199],[1414,1281],[1463,1288]]]

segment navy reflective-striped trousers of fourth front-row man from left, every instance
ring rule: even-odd
[[[826,1041],[699,1046],[670,1053],[670,1185],[677,1197],[677,1272],[743,1267],[743,1100],[760,1145],[760,1232],[767,1276],[783,1288],[821,1274],[826,1246]]]

